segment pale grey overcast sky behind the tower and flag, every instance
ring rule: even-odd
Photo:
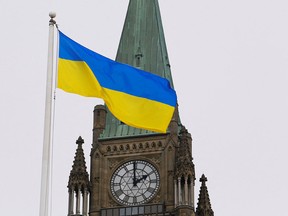
[[[128,0],[0,0],[1,215],[39,215],[49,12],[115,59]],[[288,194],[288,1],[159,0],[182,123],[215,216],[283,215]],[[67,215],[78,136],[89,167],[99,99],[57,90],[52,215]],[[89,169],[88,169],[89,170]]]

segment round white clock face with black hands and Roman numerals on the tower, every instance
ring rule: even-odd
[[[124,205],[148,202],[159,189],[159,173],[147,161],[132,160],[124,163],[111,178],[111,192]]]

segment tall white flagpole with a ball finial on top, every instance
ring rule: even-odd
[[[48,66],[46,80],[46,102],[44,119],[44,139],[42,153],[42,174],[41,174],[41,194],[40,194],[40,216],[48,216],[49,210],[49,190],[50,190],[50,170],[51,170],[51,136],[52,136],[52,95],[53,95],[53,53],[54,53],[54,25],[53,18],[56,14],[49,13],[49,39],[48,39]]]

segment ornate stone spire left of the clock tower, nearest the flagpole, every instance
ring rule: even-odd
[[[69,207],[68,216],[87,216],[88,193],[90,191],[89,175],[86,170],[86,162],[82,144],[84,140],[80,136],[76,141],[78,145],[72,170],[69,176],[68,192],[69,192]],[[76,202],[74,202],[76,199]],[[81,204],[82,202],[82,204]],[[74,208],[74,203],[76,207]],[[80,209],[82,207],[82,209]]]

